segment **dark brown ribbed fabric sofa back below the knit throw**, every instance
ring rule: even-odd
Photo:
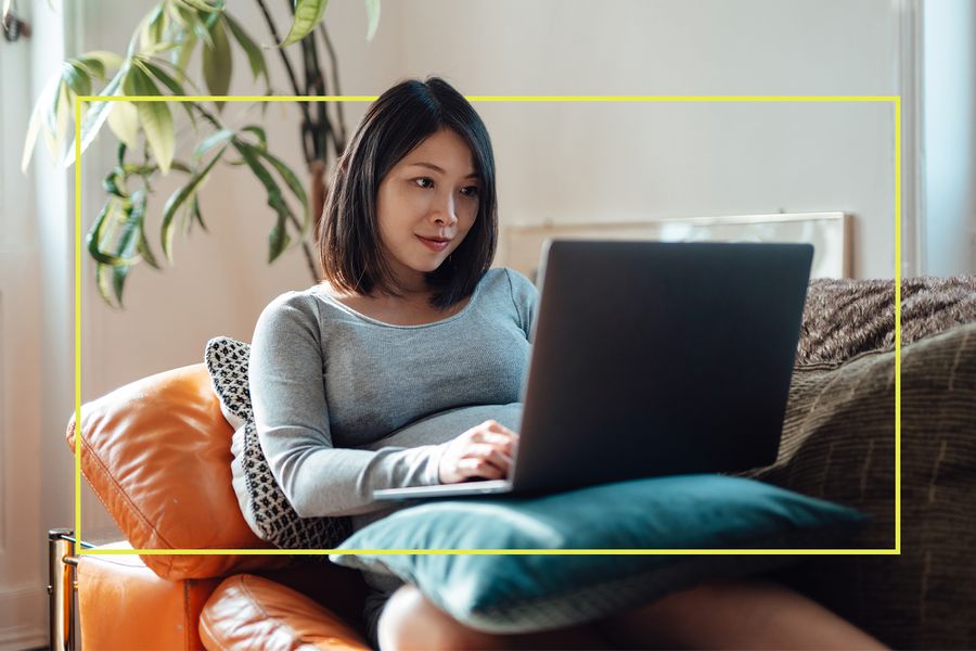
[[[976,323],[928,334],[902,348],[901,553],[811,558],[783,578],[895,648],[972,649]],[[779,459],[754,473],[871,514],[853,540],[869,549],[896,542],[895,362],[798,368]]]

